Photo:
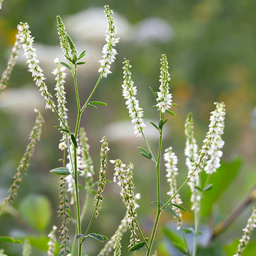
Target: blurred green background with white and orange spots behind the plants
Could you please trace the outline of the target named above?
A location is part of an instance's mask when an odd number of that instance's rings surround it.
[[[107,107],[87,109],[83,113],[81,126],[85,127],[89,138],[90,154],[94,161],[95,179],[99,169],[99,141],[106,135],[109,142],[108,159],[122,159],[128,165],[134,164],[135,192],[141,193],[138,201],[138,221],[147,237],[151,234],[156,207],[150,202],[156,200],[156,178],[153,163],[144,159],[137,147],[145,147],[144,141],[133,134],[125,100],[122,96],[123,58],[130,60],[132,79],[137,86],[137,99],[144,109],[145,129],[148,141],[156,154],[158,138],[156,130],[148,123],[158,122],[159,113],[152,105],[155,98],[148,87],[155,91],[159,88],[160,58],[166,54],[169,62],[170,92],[173,94],[172,111],[176,117],[168,116],[163,149],[172,146],[179,163],[178,184],[187,176],[184,164],[184,123],[188,112],[194,118],[195,138],[199,148],[208,130],[209,112],[215,106],[213,102],[224,101],[226,119],[223,140],[223,166],[213,174],[213,190],[205,196],[202,230],[205,235],[199,237],[202,248],[198,255],[234,255],[238,239],[242,237],[242,228],[251,214],[252,205],[222,235],[209,243],[211,228],[227,215],[245,197],[256,180],[256,2],[250,0],[130,0],[130,1],[88,1],[88,0],[4,0],[0,10],[0,72],[6,68],[11,53],[17,24],[28,22],[31,35],[35,36],[34,47],[40,60],[40,67],[47,78],[50,93],[55,94],[54,58],[63,58],[59,47],[56,15],[60,15],[66,30],[72,37],[79,53],[87,50],[79,66],[78,83],[81,101],[86,101],[97,82],[100,68],[101,50],[105,44],[107,21],[104,17],[104,5],[109,4],[114,11],[113,18],[118,28],[116,45],[118,55],[111,65],[113,74],[101,80],[92,100],[104,101]],[[25,58],[18,58],[6,91],[0,96],[0,199],[7,196],[7,189],[12,183],[33,127],[38,108],[44,116],[41,141],[36,144],[28,176],[25,176],[14,199],[0,219],[0,236],[12,236],[23,239],[29,236],[32,242],[32,255],[46,255],[47,234],[55,224],[61,226],[58,211],[58,180],[50,174],[50,169],[58,167],[62,152],[58,149],[61,135],[54,125],[59,121],[55,114],[44,108],[45,102],[27,72]],[[67,108],[69,126],[75,129],[76,102],[72,76],[66,79]],[[254,114],[253,114],[254,113]],[[73,126],[72,126],[73,124]],[[162,201],[168,200],[164,162],[161,168]],[[107,179],[112,180],[114,166],[108,164]],[[215,188],[214,188],[215,186]],[[181,191],[184,207],[190,209],[188,187]],[[36,199],[35,199],[36,198]],[[81,191],[81,198],[84,195]],[[119,196],[119,187],[110,183],[104,192],[105,201],[101,213],[94,221],[91,232],[100,233],[108,238],[114,234],[125,214],[125,206]],[[30,200],[30,201],[29,201]],[[24,210],[24,205],[31,200],[39,200],[43,210],[38,209],[38,218]],[[37,202],[37,201],[36,201]],[[87,227],[93,200],[83,229]],[[213,203],[213,207],[212,206]],[[23,209],[23,210],[22,210]],[[18,211],[17,211],[18,210]],[[45,212],[44,212],[45,211]],[[34,216],[35,217],[35,216]],[[30,221],[29,221],[30,220]],[[184,214],[184,224],[193,226],[193,214]],[[163,213],[159,231],[156,235],[153,251],[158,255],[179,255],[171,245],[173,238],[169,228],[175,230],[176,221],[169,213]],[[73,225],[69,225],[73,240]],[[123,255],[127,253],[129,231],[123,238]],[[252,235],[251,249],[244,255],[256,254],[256,235]],[[41,240],[40,240],[41,239]],[[188,237],[188,239],[190,239]],[[191,243],[191,242],[190,242]],[[253,247],[254,245],[254,247]],[[84,246],[84,253],[97,255],[103,245],[89,241]],[[22,245],[0,242],[0,249],[5,249],[9,256],[21,254]],[[143,249],[145,250],[145,249]],[[143,255],[140,250],[137,255]]]

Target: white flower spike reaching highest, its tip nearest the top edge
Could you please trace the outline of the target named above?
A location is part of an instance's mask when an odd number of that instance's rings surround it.
[[[115,46],[116,43],[119,42],[119,38],[115,38],[117,28],[114,25],[114,19],[111,17],[113,14],[112,10],[109,10],[109,6],[105,5],[105,17],[108,19],[108,29],[106,32],[109,32],[109,35],[106,35],[107,43],[103,46],[101,56],[103,59],[99,62],[101,63],[101,68],[99,72],[103,72],[102,76],[107,77],[109,73],[112,73],[110,69],[110,64],[115,61],[115,55],[118,54],[116,50],[112,47]]]

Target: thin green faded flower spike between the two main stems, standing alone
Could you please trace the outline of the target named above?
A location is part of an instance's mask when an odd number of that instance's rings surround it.
[[[99,210],[101,209],[101,203],[103,200],[102,192],[104,191],[106,184],[106,169],[107,169],[107,153],[109,151],[108,143],[106,141],[106,137],[103,137],[101,145],[101,169],[98,183],[97,195],[95,196],[95,217],[99,215]]]

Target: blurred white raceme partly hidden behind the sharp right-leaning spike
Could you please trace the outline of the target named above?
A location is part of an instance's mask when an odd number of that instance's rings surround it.
[[[225,105],[223,105],[225,107]],[[225,109],[223,110],[225,111]],[[225,117],[223,116],[223,119]],[[220,151],[221,148],[224,146],[224,141],[221,138],[221,135],[224,133],[224,120],[221,121],[221,131],[220,131],[220,137],[216,139],[216,143],[213,145],[213,151],[211,154],[211,158],[206,162],[206,166],[204,170],[206,173],[212,174],[216,172],[216,169],[220,167],[220,157],[222,157],[222,151]]]

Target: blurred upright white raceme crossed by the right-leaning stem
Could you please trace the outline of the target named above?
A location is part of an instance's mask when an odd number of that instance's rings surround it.
[[[187,137],[186,147],[185,147],[185,155],[186,158],[186,165],[188,169],[188,176],[190,176],[191,172],[193,171],[191,162],[195,162],[198,159],[198,145],[196,144],[196,140],[194,138],[194,126],[193,126],[193,119],[191,113],[187,115],[186,123],[185,123],[185,135]],[[201,196],[198,193],[198,189],[196,186],[199,186],[198,179],[195,179],[194,176],[191,176],[189,182],[187,183],[191,190],[191,198],[190,201],[192,203],[191,209],[198,209],[199,205],[198,202]]]

